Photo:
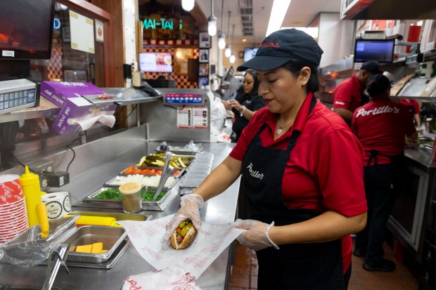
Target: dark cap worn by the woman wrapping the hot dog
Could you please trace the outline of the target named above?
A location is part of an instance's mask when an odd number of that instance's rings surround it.
[[[321,54],[321,47],[306,32],[295,28],[281,29],[269,34],[260,44],[255,57],[238,66],[238,72],[248,69],[274,70],[293,58],[306,60],[317,67]]]

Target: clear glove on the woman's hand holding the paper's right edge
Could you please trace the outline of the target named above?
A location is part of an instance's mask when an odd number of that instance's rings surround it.
[[[274,246],[274,249],[278,249],[278,246],[271,241],[268,236],[269,228],[274,226],[274,221],[271,225],[262,223],[259,220],[236,220],[233,224],[235,228],[246,230],[238,238],[238,242],[243,246],[259,251],[266,249],[269,246]]]

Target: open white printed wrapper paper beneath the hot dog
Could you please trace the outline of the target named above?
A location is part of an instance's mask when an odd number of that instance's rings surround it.
[[[120,220],[117,223],[127,230],[136,251],[154,268],[160,270],[179,265],[196,278],[200,277],[219,254],[245,231],[233,228],[233,223],[202,223],[191,246],[176,250],[170,245],[168,249],[163,249],[165,225],[172,216],[174,214],[157,220]]]

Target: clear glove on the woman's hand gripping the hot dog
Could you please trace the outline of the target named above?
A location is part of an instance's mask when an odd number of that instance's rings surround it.
[[[162,239],[164,249],[168,249],[169,244],[171,244],[171,235],[182,221],[191,219],[195,230],[200,230],[200,209],[204,203],[203,197],[195,195],[195,193],[181,197],[180,209],[166,226],[167,232]]]

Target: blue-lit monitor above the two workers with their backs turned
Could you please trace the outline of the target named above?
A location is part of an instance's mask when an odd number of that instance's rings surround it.
[[[354,62],[392,62],[394,60],[395,39],[356,39]]]

